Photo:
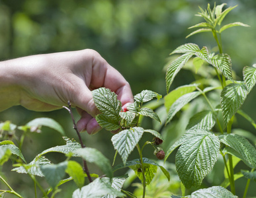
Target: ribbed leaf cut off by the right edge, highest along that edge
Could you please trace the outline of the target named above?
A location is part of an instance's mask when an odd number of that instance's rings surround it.
[[[256,82],[256,64],[253,64],[253,67],[247,66],[243,68],[243,80],[249,93]]]

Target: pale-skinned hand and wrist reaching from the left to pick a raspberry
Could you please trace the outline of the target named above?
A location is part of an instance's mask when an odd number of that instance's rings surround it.
[[[123,108],[134,102],[129,83],[93,49],[0,62],[0,111],[21,105],[46,112],[70,101],[81,115],[77,129],[89,134],[101,130],[94,118],[99,112],[91,93],[99,87],[115,92]]]

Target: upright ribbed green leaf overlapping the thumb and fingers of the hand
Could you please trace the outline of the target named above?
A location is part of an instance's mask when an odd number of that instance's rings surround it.
[[[122,110],[122,104],[117,100],[117,95],[114,92],[104,87],[95,89],[93,90],[93,101],[102,114],[117,121],[120,119],[119,112]]]

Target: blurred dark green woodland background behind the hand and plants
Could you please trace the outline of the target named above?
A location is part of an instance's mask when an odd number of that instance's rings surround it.
[[[185,39],[191,32],[188,27],[202,22],[201,18],[194,16],[199,11],[198,6],[205,9],[207,3],[214,5],[214,1],[206,0],[0,0],[0,60],[91,48],[99,51],[124,75],[134,94],[149,89],[164,96],[163,67],[173,49],[189,42],[200,47],[216,46],[210,33]],[[220,3],[227,3],[228,7],[238,5],[224,23],[239,21],[251,26],[230,28],[222,34],[224,53],[232,57],[232,67],[242,77],[243,67],[256,63],[256,1],[216,1],[216,4]],[[192,80],[183,71],[171,89]],[[253,90],[243,105],[243,110],[251,117],[256,117],[255,109],[251,108],[255,106],[255,94]],[[77,139],[66,110],[32,112],[15,106],[0,113],[1,121],[10,120],[17,125],[24,125],[36,117],[52,117],[64,127],[68,137]],[[79,119],[77,114],[75,117]],[[239,127],[255,133],[255,129],[243,121]],[[87,147],[96,147],[110,159],[114,154],[111,136],[106,131],[93,136],[83,133]],[[29,135],[23,148],[25,158],[30,162],[38,152],[63,143],[61,135],[43,128],[43,133]],[[153,158],[153,150],[149,152],[148,156]],[[53,162],[65,159],[60,155],[49,158]],[[16,181],[17,191],[27,185],[28,178],[17,180],[15,173],[7,176],[10,183]],[[67,189],[64,191],[65,196],[70,197]]]

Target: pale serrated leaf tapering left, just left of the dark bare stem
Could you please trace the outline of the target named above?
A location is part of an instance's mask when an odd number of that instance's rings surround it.
[[[61,152],[61,153],[64,153],[64,154],[68,154],[69,152],[73,152],[74,150],[77,150],[77,149],[81,148],[81,145],[79,143],[77,143],[76,141],[74,141],[73,139],[70,140],[68,137],[63,137],[63,139],[66,142],[65,145],[56,146],[56,147],[52,147],[50,149],[46,149],[43,152],[41,152],[40,154],[38,154],[38,156],[41,156],[41,155],[46,154],[48,152]]]

